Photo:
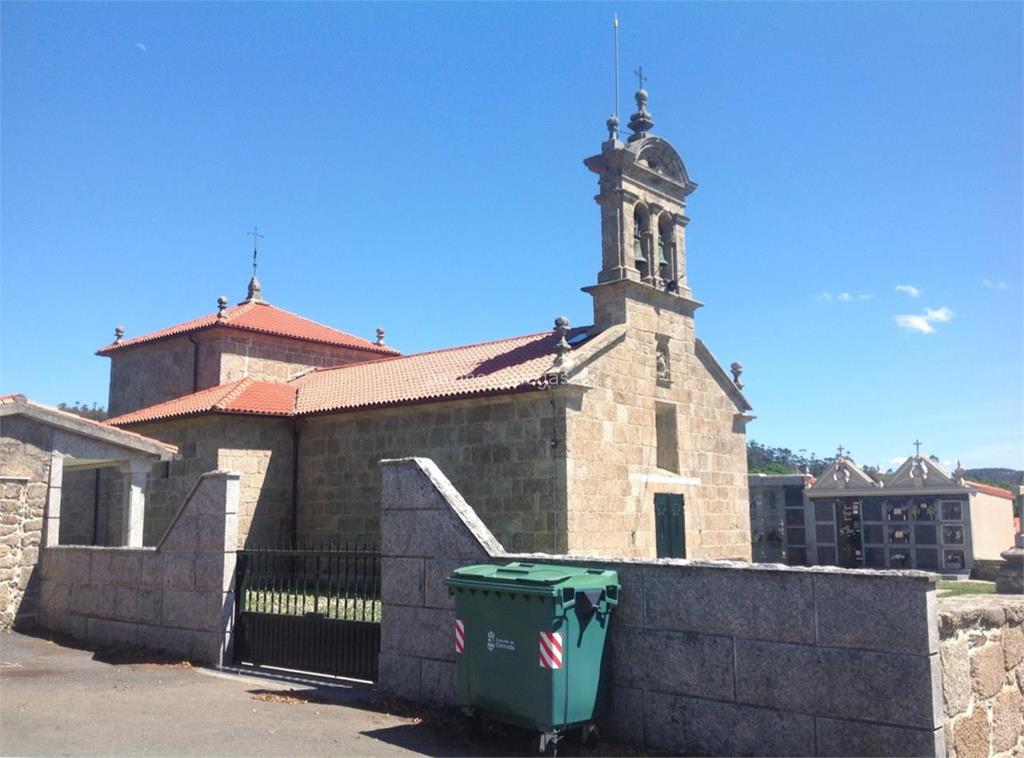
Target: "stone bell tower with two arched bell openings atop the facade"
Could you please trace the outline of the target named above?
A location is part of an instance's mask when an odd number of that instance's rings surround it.
[[[697,185],[675,148],[650,133],[647,97],[645,89],[636,93],[629,138],[618,139],[612,116],[600,154],[584,161],[600,187],[602,266],[597,284],[584,288],[599,328],[625,323],[631,299],[686,315],[700,307],[686,278],[686,198]]]

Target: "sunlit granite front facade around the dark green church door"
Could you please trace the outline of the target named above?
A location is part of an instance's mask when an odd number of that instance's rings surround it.
[[[566,415],[566,552],[654,557],[653,499],[666,493],[685,499],[686,557],[749,560],[748,417],[692,314],[664,297],[639,287],[623,299],[622,338],[571,377],[588,389]],[[659,410],[674,450],[659,444]]]

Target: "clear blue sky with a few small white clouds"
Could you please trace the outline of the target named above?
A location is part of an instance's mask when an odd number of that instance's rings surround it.
[[[1024,466],[1022,7],[4,3],[0,391],[104,404],[253,224],[269,301],[403,351],[590,323],[617,9],[751,436]]]

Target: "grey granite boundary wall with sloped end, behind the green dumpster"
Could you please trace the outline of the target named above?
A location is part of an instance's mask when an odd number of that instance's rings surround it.
[[[492,560],[614,568],[612,739],[681,754],[945,753],[933,582],[910,572],[506,553],[427,459],[382,462],[379,686],[455,697],[444,578]],[[416,629],[417,634],[408,634]]]

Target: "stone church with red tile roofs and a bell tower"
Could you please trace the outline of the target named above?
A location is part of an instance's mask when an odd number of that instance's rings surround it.
[[[695,336],[686,199],[696,184],[651,133],[647,92],[584,162],[597,175],[594,323],[402,355],[268,302],[245,300],[137,337],[116,331],[106,423],[174,445],[147,481],[154,544],[200,473],[242,474],[240,541],[373,540],[383,458],[432,458],[516,551],[751,556],[746,423]],[[540,327],[541,325],[539,325]],[[91,472],[95,473],[95,472]],[[76,471],[63,509],[99,508]],[[116,472],[110,473],[116,476]],[[117,498],[108,499],[111,503]],[[123,499],[121,499],[123,502]],[[117,507],[113,505],[112,507]],[[122,544],[118,514],[96,541]]]

